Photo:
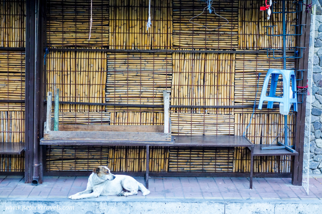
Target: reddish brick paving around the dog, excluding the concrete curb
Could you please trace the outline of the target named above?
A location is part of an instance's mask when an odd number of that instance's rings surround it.
[[[66,199],[69,195],[86,189],[88,177],[44,177],[44,183],[32,186],[24,183],[23,176],[0,176],[0,198]],[[136,179],[144,183],[143,177]],[[259,199],[305,200],[322,199],[322,177],[309,180],[310,192],[293,186],[291,178],[254,178],[249,189],[248,178],[235,177],[152,177],[151,193],[136,196],[150,199]],[[101,196],[117,198],[117,196]]]

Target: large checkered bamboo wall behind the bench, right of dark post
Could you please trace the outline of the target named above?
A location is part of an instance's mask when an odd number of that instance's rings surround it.
[[[295,4],[287,1],[287,9]],[[152,1],[152,27],[146,29],[147,0],[93,1],[93,25],[88,40],[89,2],[47,1],[47,45],[57,48],[92,48],[51,51],[47,55],[47,90],[60,88],[60,123],[110,125],[162,125],[163,109],[117,107],[104,104],[163,104],[162,91],[171,92],[171,105],[221,105],[222,108],[175,107],[170,109],[174,135],[242,135],[257,91],[259,101],[269,68],[282,68],[282,59],[266,54],[197,53],[198,50],[261,50],[281,48],[281,17],[259,11],[264,1],[213,1],[216,13],[203,2]],[[281,1],[274,5],[281,8]],[[200,14],[199,16],[197,16]],[[217,14],[217,15],[216,15]],[[228,24],[225,24],[226,18]],[[193,18],[194,16],[197,16]],[[192,19],[193,24],[189,22]],[[287,32],[295,32],[294,14],[287,15]],[[205,25],[206,30],[200,25]],[[225,24],[224,26],[222,26]],[[274,29],[263,26],[277,25]],[[221,28],[218,28],[222,26]],[[218,28],[218,29],[215,29]],[[288,47],[295,37],[287,38]],[[105,51],[95,50],[97,48]],[[113,49],[110,50],[109,49]],[[115,49],[119,49],[115,51]],[[122,49],[170,49],[174,53],[128,53]],[[272,57],[269,55],[269,57]],[[287,68],[295,60],[287,60]],[[259,73],[261,75],[259,76]],[[278,83],[278,94],[282,84]],[[290,142],[294,136],[294,113],[288,116]],[[255,109],[246,135],[255,144],[270,144],[283,129],[279,109]],[[278,140],[283,141],[281,137]],[[90,156],[88,154],[90,152]],[[90,171],[108,165],[112,171],[144,171],[143,147],[48,146],[47,171]],[[255,172],[291,172],[289,156],[256,157]],[[249,172],[250,154],[242,148],[151,147],[150,171]]]

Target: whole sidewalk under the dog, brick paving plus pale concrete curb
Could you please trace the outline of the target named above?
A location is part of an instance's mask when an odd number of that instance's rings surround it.
[[[322,177],[310,178],[310,192],[293,186],[290,178],[152,177],[151,193],[142,196],[99,196],[72,201],[86,189],[88,177],[44,177],[44,183],[25,184],[22,176],[0,176],[0,210],[4,213],[321,213]],[[143,177],[136,179],[144,183]],[[9,206],[21,206],[10,209]],[[27,206],[29,206],[27,208]],[[36,210],[29,210],[32,207]],[[43,208],[41,207],[43,206]],[[51,210],[48,206],[72,206]],[[15,210],[13,210],[15,209]],[[28,210],[26,210],[28,209]]]

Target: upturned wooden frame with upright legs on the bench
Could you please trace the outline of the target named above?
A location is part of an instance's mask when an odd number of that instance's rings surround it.
[[[173,143],[169,117],[170,93],[163,91],[165,125],[58,125],[59,89],[55,91],[54,117],[52,118],[52,92],[47,95],[47,122],[44,124],[43,139],[46,141],[102,141],[105,143],[165,142]],[[86,130],[86,131],[83,131]]]

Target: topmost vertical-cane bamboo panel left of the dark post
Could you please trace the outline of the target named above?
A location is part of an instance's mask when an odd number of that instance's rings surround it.
[[[0,15],[0,47],[25,47],[25,0],[1,1]]]

